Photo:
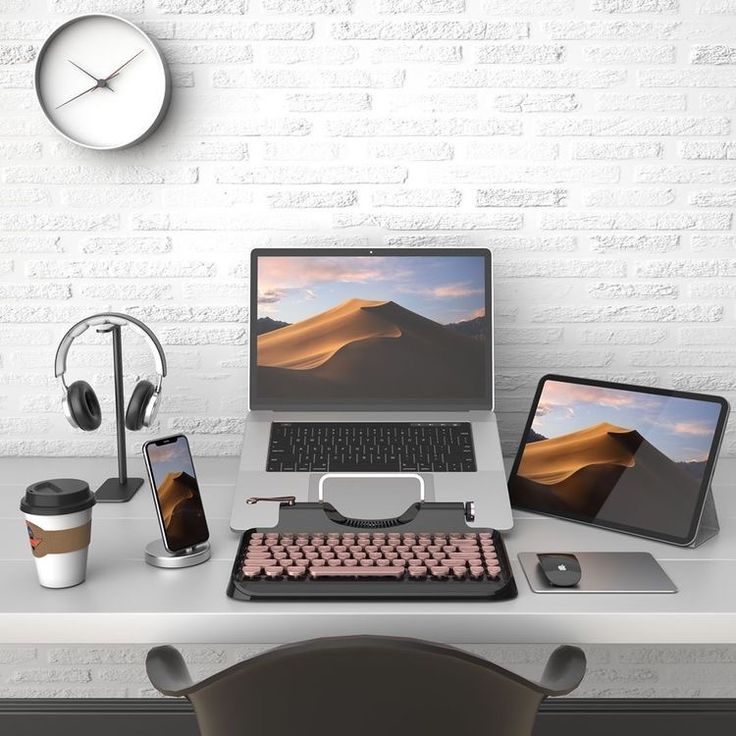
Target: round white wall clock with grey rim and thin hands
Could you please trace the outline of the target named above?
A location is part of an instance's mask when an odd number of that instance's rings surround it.
[[[36,94],[51,124],[74,143],[136,143],[161,122],[169,74],[153,41],[111,15],[84,15],[48,38],[36,60]]]

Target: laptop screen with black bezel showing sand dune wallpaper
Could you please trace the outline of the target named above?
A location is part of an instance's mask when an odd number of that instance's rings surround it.
[[[491,254],[256,250],[252,408],[491,408]]]

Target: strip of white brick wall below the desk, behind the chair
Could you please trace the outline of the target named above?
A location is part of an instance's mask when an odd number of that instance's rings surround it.
[[[195,679],[219,672],[272,645],[180,647]],[[538,678],[553,646],[461,644],[519,674]],[[585,646],[588,671],[572,697],[732,698],[736,647]],[[0,645],[0,698],[157,697],[146,677],[148,647],[112,644]]]

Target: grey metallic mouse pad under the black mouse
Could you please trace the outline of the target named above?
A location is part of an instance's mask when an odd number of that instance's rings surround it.
[[[536,552],[519,553],[524,575],[535,593],[677,593],[677,586],[648,552],[566,554],[574,554],[580,563],[580,582],[572,588],[550,585]]]

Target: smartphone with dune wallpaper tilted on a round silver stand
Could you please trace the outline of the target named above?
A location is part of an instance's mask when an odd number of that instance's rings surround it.
[[[143,458],[166,549],[179,552],[206,542],[210,532],[187,438],[149,440]]]

